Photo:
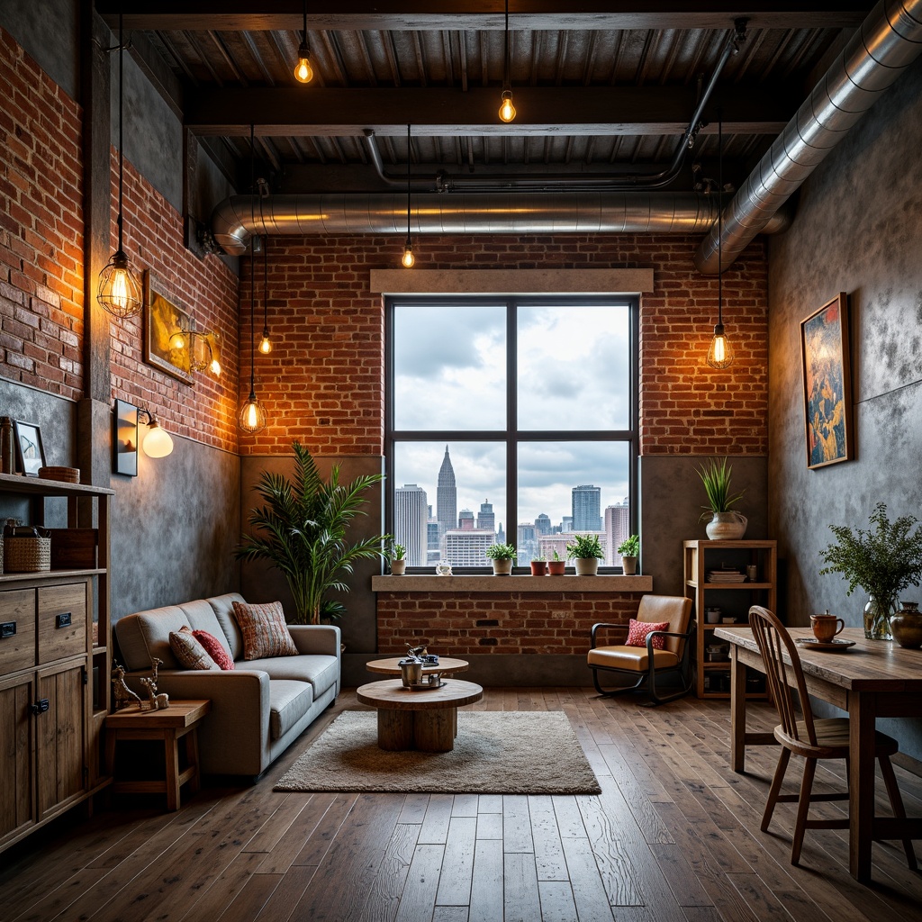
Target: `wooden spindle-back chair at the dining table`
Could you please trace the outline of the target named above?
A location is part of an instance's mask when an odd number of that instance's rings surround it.
[[[791,864],[798,864],[800,848],[803,845],[804,831],[807,829],[847,829],[848,819],[844,820],[808,820],[810,802],[817,800],[847,800],[848,794],[812,794],[813,776],[816,773],[818,759],[845,759],[847,770],[849,747],[849,724],[847,717],[814,719],[810,708],[810,695],[800,668],[800,656],[797,645],[791,639],[785,626],[774,612],[753,605],[750,609],[750,626],[755,642],[762,653],[768,691],[774,699],[781,723],[774,728],[774,739],[781,744],[781,754],[774,770],[772,786],[768,792],[765,813],[762,817],[762,832],[768,832],[772,822],[774,805],[778,801],[797,802],[798,817],[794,825],[794,837],[791,844]],[[803,719],[798,720],[795,712],[792,689],[797,689]],[[881,763],[881,774],[887,786],[887,794],[893,815],[903,818],[903,798],[896,784],[896,775],[890,757],[899,750],[895,739],[884,733],[875,734],[874,755]],[[803,756],[804,774],[800,783],[799,794],[781,794],[781,784],[785,778],[787,762],[791,753]],[[916,870],[916,853],[911,839],[903,840],[903,848],[909,867]]]

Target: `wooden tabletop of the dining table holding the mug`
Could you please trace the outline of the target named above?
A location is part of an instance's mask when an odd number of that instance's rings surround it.
[[[812,637],[810,628],[788,628],[798,637]],[[758,653],[751,628],[723,625],[715,636]],[[839,640],[855,646],[828,651],[798,644],[800,665],[805,673],[852,691],[922,691],[922,650],[906,650],[892,641],[867,640],[862,628],[845,628]]]

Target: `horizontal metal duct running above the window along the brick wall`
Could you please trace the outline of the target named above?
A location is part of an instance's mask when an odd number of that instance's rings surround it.
[[[413,234],[702,233],[715,195],[668,192],[413,195]],[[790,226],[780,212],[762,231]],[[253,234],[406,234],[406,193],[233,195],[211,216],[215,241],[246,252]]]

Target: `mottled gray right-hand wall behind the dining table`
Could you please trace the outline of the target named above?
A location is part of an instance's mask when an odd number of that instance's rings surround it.
[[[876,502],[922,515],[922,60],[878,101],[801,190],[769,259],[769,526],[787,561],[788,624],[829,609],[861,624],[858,590],[821,576],[829,526],[868,526]],[[851,304],[856,457],[809,471],[799,324],[839,291]],[[907,590],[904,597],[922,598]],[[888,732],[922,758],[922,723]],[[887,727],[884,727],[887,729]]]

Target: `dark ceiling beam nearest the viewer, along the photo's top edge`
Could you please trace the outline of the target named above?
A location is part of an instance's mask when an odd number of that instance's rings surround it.
[[[133,0],[126,30],[300,30],[301,0]],[[338,0],[308,9],[310,30],[502,30],[502,0]],[[867,0],[512,0],[512,30],[728,29],[745,16],[752,29],[849,29],[867,15]],[[96,0],[110,26],[123,0]]]

